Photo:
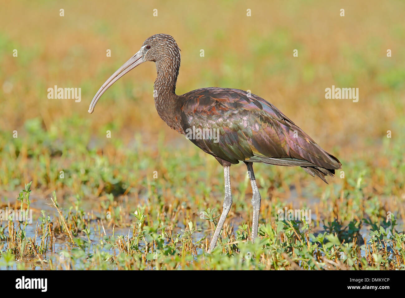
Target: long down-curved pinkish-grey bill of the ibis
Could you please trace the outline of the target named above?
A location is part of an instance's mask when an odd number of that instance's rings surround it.
[[[134,69],[136,66],[138,66],[139,64],[141,64],[143,62],[145,62],[145,60],[143,60],[143,53],[140,50],[140,51],[138,51],[138,53],[136,53],[134,56],[132,56],[127,62],[125,62],[124,65],[122,65],[119,69],[117,69],[117,71],[115,73],[113,73],[113,75],[111,75],[111,77],[109,77],[107,79],[107,81],[105,81],[104,84],[102,84],[101,88],[98,89],[96,95],[94,95],[92,103],[90,103],[88,112],[90,114],[93,113],[94,107],[96,106],[97,101],[100,99],[102,94],[104,94],[104,92],[108,88],[110,88],[111,85],[113,85],[116,81],[118,81],[120,77],[122,77],[123,75],[125,75],[130,70]]]

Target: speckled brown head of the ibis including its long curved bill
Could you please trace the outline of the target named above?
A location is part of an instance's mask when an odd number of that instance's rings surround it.
[[[155,34],[148,37],[143,42],[141,49],[102,84],[96,95],[94,95],[88,112],[93,113],[97,101],[111,85],[145,61],[155,62],[158,72],[162,69],[171,70],[176,73],[177,77],[180,68],[180,49],[175,39],[168,34]]]

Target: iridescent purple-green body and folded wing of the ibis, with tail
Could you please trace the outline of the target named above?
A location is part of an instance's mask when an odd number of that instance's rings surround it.
[[[336,157],[255,94],[212,87],[185,93],[179,100],[181,127],[185,133],[211,129],[215,138],[192,134],[190,140],[220,163],[252,161],[301,166],[325,182],[325,175],[332,176],[341,167]]]

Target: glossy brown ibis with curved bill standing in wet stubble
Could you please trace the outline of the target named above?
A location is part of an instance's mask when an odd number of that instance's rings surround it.
[[[176,94],[180,69],[180,48],[169,34],[147,38],[134,56],[125,62],[97,91],[88,112],[119,78],[143,62],[156,64],[153,98],[160,118],[185,135],[224,167],[224,203],[211,238],[208,253],[217,245],[232,206],[230,166],[243,161],[252,187],[253,220],[251,240],[258,236],[261,196],[253,163],[302,167],[324,182],[341,168],[340,161],[285,116],[277,107],[250,92],[209,87]]]

